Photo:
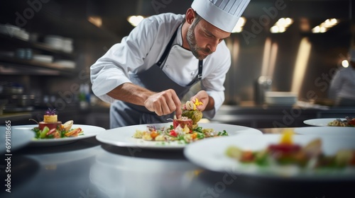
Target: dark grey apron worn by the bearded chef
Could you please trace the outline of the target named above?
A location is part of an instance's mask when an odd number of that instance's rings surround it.
[[[165,48],[165,51],[151,68],[143,71],[139,74],[130,74],[129,78],[132,83],[147,88],[148,90],[154,92],[161,92],[172,88],[178,97],[181,98],[190,90],[191,86],[202,79],[202,60],[198,63],[198,74],[197,76],[187,85],[180,86],[175,83],[163,72],[163,63],[168,57],[171,47],[173,46],[173,41],[178,33],[178,29],[175,30],[173,37]],[[136,124],[151,124],[151,123],[164,123],[171,122],[168,118],[173,118],[175,112],[170,115],[158,116],[155,112],[151,112],[144,106],[133,105],[131,103],[126,103],[121,100],[116,101],[111,104],[110,108],[110,127],[111,129],[116,127],[124,127]]]

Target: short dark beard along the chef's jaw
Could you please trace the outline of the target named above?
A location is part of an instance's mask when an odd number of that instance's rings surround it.
[[[206,58],[212,52],[208,48],[203,48],[203,47],[197,46],[196,37],[195,37],[195,33],[194,33],[195,26],[196,26],[196,24],[192,23],[190,28],[187,30],[187,43],[190,46],[190,50],[191,50],[192,54],[194,54],[194,56],[197,59],[202,60],[202,59]],[[199,52],[203,52],[204,54],[199,54]]]

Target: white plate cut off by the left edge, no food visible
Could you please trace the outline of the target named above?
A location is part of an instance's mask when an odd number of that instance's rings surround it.
[[[7,132],[7,135],[6,135]],[[12,151],[16,151],[18,148],[22,148],[23,146],[26,146],[29,144],[32,139],[35,137],[35,134],[31,131],[28,130],[16,130],[13,129],[13,126],[11,127],[0,127],[0,142],[1,142],[1,148],[0,148],[0,153],[7,153],[6,152],[6,139],[9,139],[10,146],[10,153]]]

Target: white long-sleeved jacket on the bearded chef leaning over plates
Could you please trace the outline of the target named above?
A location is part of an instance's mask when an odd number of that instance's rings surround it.
[[[197,75],[198,59],[190,50],[176,46],[182,46],[183,18],[185,16],[180,14],[162,13],[141,21],[128,36],[112,46],[90,67],[93,93],[107,103],[114,103],[115,99],[107,93],[122,83],[131,82],[129,74],[146,71],[158,62],[176,28],[179,28],[178,34],[163,71],[181,86],[190,83]],[[214,98],[214,110],[204,111],[207,118],[214,117],[224,103],[224,80],[230,66],[231,54],[224,41],[219,43],[216,52],[203,61],[201,86]]]

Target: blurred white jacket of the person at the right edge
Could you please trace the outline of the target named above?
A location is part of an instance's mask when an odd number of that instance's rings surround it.
[[[351,66],[340,69],[334,74],[330,88],[329,98],[347,98],[355,100],[355,69]]]

